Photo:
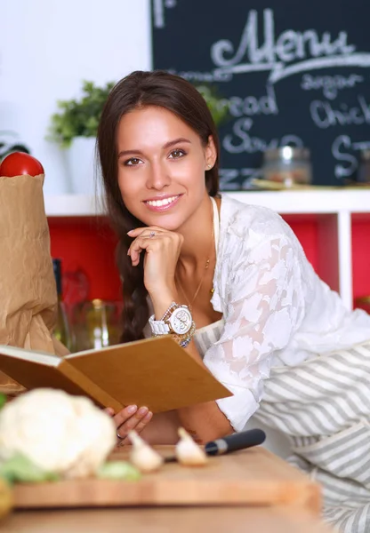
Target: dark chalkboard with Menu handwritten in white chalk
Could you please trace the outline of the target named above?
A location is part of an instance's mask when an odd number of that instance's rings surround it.
[[[313,182],[356,179],[370,148],[370,2],[152,0],[153,68],[213,85],[221,188],[248,188],[265,149],[310,148]]]

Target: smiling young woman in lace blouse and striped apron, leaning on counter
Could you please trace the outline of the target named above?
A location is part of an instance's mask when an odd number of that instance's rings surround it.
[[[205,442],[255,413],[289,435],[328,518],[370,530],[370,316],[345,309],[277,213],[218,194],[217,131],[181,77],[119,82],[98,150],[119,236],[122,341],[173,335],[233,393],[154,418],[130,406],[114,415],[118,438],[135,427],[175,442],[181,425]]]

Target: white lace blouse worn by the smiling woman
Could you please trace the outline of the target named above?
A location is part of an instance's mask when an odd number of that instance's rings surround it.
[[[217,403],[236,431],[257,410],[272,366],[298,365],[370,338],[370,315],[347,311],[286,222],[227,195],[213,287],[211,302],[223,319],[203,361],[233,393]]]

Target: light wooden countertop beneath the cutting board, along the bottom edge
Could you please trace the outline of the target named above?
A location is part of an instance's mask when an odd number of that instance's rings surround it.
[[[6,533],[334,533],[311,513],[278,507],[17,511],[2,526]]]

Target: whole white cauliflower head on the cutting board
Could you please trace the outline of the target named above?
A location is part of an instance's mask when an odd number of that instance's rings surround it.
[[[97,472],[115,447],[116,426],[83,396],[39,388],[0,411],[0,459],[16,454],[65,478]]]

